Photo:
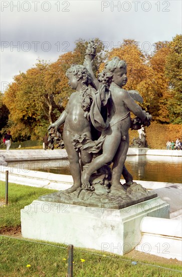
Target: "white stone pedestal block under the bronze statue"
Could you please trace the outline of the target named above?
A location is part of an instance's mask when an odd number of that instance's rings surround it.
[[[169,218],[168,211],[160,197],[121,210],[34,200],[21,210],[22,235],[123,255],[140,242],[143,217]]]

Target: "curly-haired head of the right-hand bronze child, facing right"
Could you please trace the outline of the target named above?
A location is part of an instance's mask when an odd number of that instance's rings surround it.
[[[104,70],[99,74],[99,81],[110,85],[114,82],[117,86],[122,87],[127,82],[127,66],[124,60],[114,57],[107,61]]]

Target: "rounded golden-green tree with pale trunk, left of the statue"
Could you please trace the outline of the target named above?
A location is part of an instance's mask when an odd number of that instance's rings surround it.
[[[57,108],[54,94],[59,93],[59,72],[54,63],[39,61],[26,73],[15,76],[14,83],[5,92],[5,103],[10,110],[14,137],[38,138],[55,119]]]

